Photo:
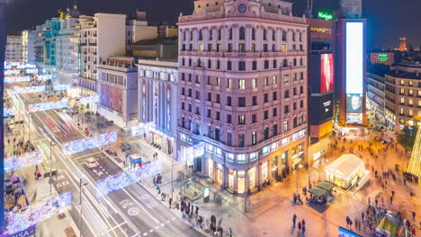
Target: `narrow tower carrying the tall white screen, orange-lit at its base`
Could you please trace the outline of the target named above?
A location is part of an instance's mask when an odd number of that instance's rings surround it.
[[[366,20],[361,0],[341,0],[335,22],[335,120],[343,134],[363,135],[366,119]]]

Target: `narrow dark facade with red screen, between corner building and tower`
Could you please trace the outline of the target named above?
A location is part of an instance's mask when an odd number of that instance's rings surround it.
[[[324,18],[331,19],[327,13]],[[320,17],[320,16],[319,16]],[[333,131],[335,34],[334,22],[309,22],[309,165],[320,161]]]

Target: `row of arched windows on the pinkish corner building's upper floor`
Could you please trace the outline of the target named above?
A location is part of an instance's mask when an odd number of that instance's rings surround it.
[[[235,32],[236,31],[236,32]],[[259,30],[258,30],[259,31]],[[199,30],[197,31],[197,40],[204,40],[204,34],[203,34],[203,30]],[[207,32],[207,38],[208,40],[213,40],[214,37],[217,40],[222,40],[222,29],[210,29]],[[277,37],[279,34],[281,34],[281,40],[282,41],[286,41],[288,39],[288,32],[287,31],[276,31],[276,30],[267,30],[267,29],[262,29],[261,30],[261,38],[262,40],[277,40]],[[189,31],[189,30],[184,30],[183,32],[183,40],[193,40],[193,31]],[[251,40],[256,40],[257,39],[257,34],[256,34],[256,30],[255,28],[252,28],[250,33],[247,34],[246,33],[246,28],[245,27],[240,27],[238,29],[234,29],[234,28],[229,28],[228,32],[228,40],[234,40],[234,34],[237,35],[237,40],[248,40],[248,38],[250,38]],[[294,32],[291,31],[290,33],[291,36],[291,40],[292,41],[296,41],[299,40],[300,42],[302,42],[303,40],[303,33],[301,32]]]

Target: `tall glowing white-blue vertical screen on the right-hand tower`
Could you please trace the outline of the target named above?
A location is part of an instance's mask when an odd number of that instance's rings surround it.
[[[346,22],[346,93],[363,93],[363,22]]]

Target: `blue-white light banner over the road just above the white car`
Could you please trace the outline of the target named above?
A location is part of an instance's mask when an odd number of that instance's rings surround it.
[[[69,142],[65,145],[64,151],[66,154],[78,154],[87,150],[91,150],[103,145],[110,145],[117,142],[117,131],[105,133],[90,138],[84,138]]]

